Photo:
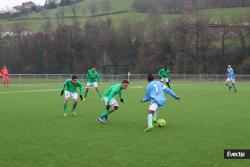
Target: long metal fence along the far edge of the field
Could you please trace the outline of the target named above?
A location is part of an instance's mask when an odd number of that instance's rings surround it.
[[[81,80],[85,80],[86,74],[76,74]],[[11,83],[49,83],[63,82],[67,78],[71,78],[72,74],[10,74]],[[157,76],[155,74],[155,76]],[[130,81],[145,81],[147,74],[101,74],[104,82],[121,81],[124,79]],[[158,79],[158,77],[156,78]],[[224,81],[226,75],[220,74],[172,74],[171,80],[180,81]],[[237,81],[250,81],[250,75],[236,75]]]

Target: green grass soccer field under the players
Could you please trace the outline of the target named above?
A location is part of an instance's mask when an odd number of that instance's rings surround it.
[[[61,86],[0,87],[1,167],[250,166],[224,159],[224,149],[250,149],[249,83],[237,83],[234,93],[223,82],[173,82],[181,101],[167,95],[158,116],[167,125],[148,133],[149,103],[140,103],[146,83],[123,91],[125,104],[105,125],[97,121],[104,102],[93,89],[77,117],[64,118]]]

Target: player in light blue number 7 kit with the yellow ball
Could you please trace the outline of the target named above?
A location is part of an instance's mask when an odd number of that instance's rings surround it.
[[[152,74],[148,74],[148,86],[146,92],[146,98],[142,99],[141,102],[151,101],[148,112],[148,127],[144,130],[144,132],[148,132],[153,128],[153,122],[157,121],[157,114],[159,107],[166,104],[166,98],[164,96],[164,92],[175,98],[176,100],[180,100],[180,97],[177,96],[174,91],[167,88],[160,81],[154,81],[154,77]]]

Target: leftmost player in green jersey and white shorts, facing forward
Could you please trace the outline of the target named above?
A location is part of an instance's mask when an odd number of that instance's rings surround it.
[[[67,117],[67,104],[68,101],[71,99],[73,99],[73,107],[71,109],[71,113],[73,114],[73,116],[76,116],[76,112],[74,111],[77,103],[78,103],[78,94],[77,94],[77,88],[80,89],[80,98],[82,100],[82,84],[79,80],[77,80],[77,76],[73,75],[72,79],[67,79],[64,83],[63,83],[63,87],[61,90],[61,96],[64,94],[65,92],[65,98],[64,98],[64,116]],[[66,91],[65,91],[66,89]]]

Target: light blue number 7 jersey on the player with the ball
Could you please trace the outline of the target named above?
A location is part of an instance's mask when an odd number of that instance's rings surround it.
[[[164,92],[174,98],[178,97],[171,89],[167,88],[160,81],[151,81],[147,86],[146,98],[142,101],[147,102],[151,100],[152,103],[157,103],[159,106],[163,106],[166,103]]]

